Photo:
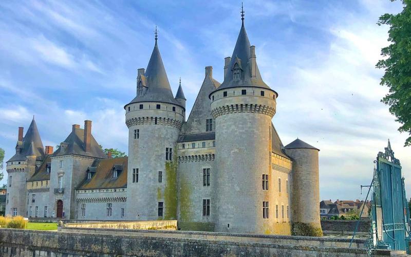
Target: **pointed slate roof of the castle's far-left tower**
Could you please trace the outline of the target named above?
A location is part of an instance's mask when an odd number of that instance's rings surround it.
[[[18,148],[16,154],[14,154],[7,162],[25,161],[26,156],[28,155],[35,155],[37,157],[36,160],[43,160],[44,146],[34,117],[23,138],[23,144],[20,146],[17,145],[16,148]]]

